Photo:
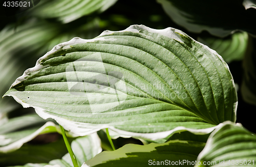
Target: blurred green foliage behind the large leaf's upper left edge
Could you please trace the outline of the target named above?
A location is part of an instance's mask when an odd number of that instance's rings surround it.
[[[96,18],[73,29],[69,25],[35,20],[16,28],[6,26],[0,32],[0,95],[4,95],[13,80],[53,46],[75,36],[93,38],[99,34],[98,26]],[[17,108],[15,104],[11,98],[1,98],[0,113],[11,112]]]

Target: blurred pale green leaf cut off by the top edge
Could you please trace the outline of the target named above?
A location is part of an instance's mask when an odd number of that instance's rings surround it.
[[[101,13],[116,2],[117,0],[48,0],[41,1],[30,14],[42,18],[57,18],[67,23],[94,12]]]

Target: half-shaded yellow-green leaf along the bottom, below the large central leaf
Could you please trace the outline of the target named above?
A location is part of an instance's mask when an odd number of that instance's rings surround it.
[[[191,138],[190,135],[192,135]],[[193,164],[187,164],[187,162],[196,161],[197,156],[203,150],[205,143],[195,140],[196,138],[193,135],[194,134],[189,133],[185,137],[186,140],[171,140],[163,144],[151,143],[144,146],[127,144],[115,151],[103,151],[102,153],[99,153],[91,160],[86,161],[82,167],[171,166],[175,165],[175,162],[176,165],[194,166]]]

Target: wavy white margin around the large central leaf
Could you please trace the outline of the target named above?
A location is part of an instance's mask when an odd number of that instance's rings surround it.
[[[10,88],[12,88],[15,85],[19,84],[20,82],[26,80],[26,76],[28,76],[31,72],[38,71],[42,68],[50,66],[50,65],[43,66],[40,63],[45,62],[46,60],[48,60],[50,58],[53,58],[53,56],[50,57],[52,54],[55,54],[59,51],[65,51],[66,49],[71,48],[69,45],[78,44],[78,43],[88,43],[88,42],[100,41],[100,40],[104,41],[104,37],[100,37],[100,36],[110,35],[110,34],[116,33],[116,32],[118,32],[118,33],[120,33],[120,32],[139,33],[138,29],[139,30],[146,30],[146,31],[152,32],[152,33],[158,33],[158,34],[164,35],[166,37],[173,38],[173,39],[175,39],[175,40],[177,40],[181,43],[184,43],[184,39],[181,38],[180,35],[183,35],[184,37],[189,37],[188,35],[186,35],[182,31],[174,29],[172,27],[167,27],[166,29],[162,29],[162,30],[156,30],[156,29],[151,29],[150,27],[147,27],[145,25],[131,25],[131,26],[127,27],[127,29],[122,30],[122,31],[108,31],[107,30],[107,31],[102,32],[98,37],[96,37],[94,39],[81,39],[79,37],[75,37],[75,38],[73,38],[72,40],[70,40],[68,42],[63,42],[63,43],[60,43],[60,44],[54,46],[51,51],[48,51],[44,56],[42,56],[41,58],[39,58],[37,60],[35,67],[27,69],[22,76],[18,77],[13,82],[13,84],[11,85]],[[170,33],[170,32],[174,32],[174,33]],[[190,39],[193,40],[193,42],[200,43],[200,42],[194,40],[193,38],[190,38]],[[113,39],[113,40],[115,40],[115,39]],[[203,45],[211,53],[214,53],[215,55],[217,55],[217,57],[222,62],[224,62],[225,68],[227,68],[229,73],[230,73],[228,65],[225,63],[224,59],[215,50],[210,49],[208,46],[206,46],[204,44],[201,44],[201,45]],[[231,75],[231,73],[230,73],[230,75]],[[234,89],[236,89],[236,87],[234,86],[234,81],[233,80],[232,80],[232,85],[233,85]],[[67,125],[67,120],[66,119],[62,119],[62,118],[59,118],[57,116],[49,115],[49,114],[44,112],[44,109],[42,109],[40,107],[37,107],[37,106],[27,104],[27,103],[23,102],[22,100],[18,99],[14,95],[8,95],[6,93],[3,97],[5,97],[5,96],[12,96],[18,103],[22,104],[22,106],[25,107],[25,108],[27,108],[27,107],[35,108],[36,113],[41,118],[43,118],[43,119],[52,118],[57,123],[59,123],[61,126],[63,126],[63,128],[65,128],[66,130],[71,131],[72,133],[80,135],[80,136],[88,135],[88,134],[91,134],[91,133],[96,132],[98,130],[109,128],[110,130],[118,133],[119,136],[122,136],[122,137],[131,137],[132,136],[132,137],[135,137],[135,138],[141,138],[141,139],[145,139],[145,140],[147,140],[147,139],[158,140],[158,139],[161,139],[161,138],[165,138],[165,137],[169,136],[170,134],[173,134],[173,133],[176,133],[176,132],[181,132],[181,131],[189,131],[189,132],[192,132],[192,133],[195,133],[195,134],[207,134],[207,133],[212,132],[214,129],[216,129],[220,126],[220,124],[219,124],[219,125],[216,125],[214,127],[205,128],[205,129],[190,129],[190,128],[186,128],[186,127],[183,127],[183,126],[178,126],[174,129],[168,130],[168,131],[155,132],[155,133],[138,133],[138,132],[124,131],[124,130],[116,129],[113,126],[109,126],[109,125],[106,125],[106,124],[101,124],[101,125],[97,126],[97,128],[94,128],[94,129],[91,129],[91,130],[88,130],[88,131],[84,132],[83,128],[79,128],[79,127],[70,128],[70,126]],[[233,103],[234,115],[235,116],[236,116],[237,104],[238,104],[238,101]],[[236,120],[234,120],[234,121],[236,121]],[[77,125],[78,126],[79,125],[84,126],[84,125],[91,124],[91,123],[80,123],[80,122],[74,122],[74,121],[69,121],[69,122],[70,122],[70,124],[73,124],[73,125],[76,125],[76,126]]]

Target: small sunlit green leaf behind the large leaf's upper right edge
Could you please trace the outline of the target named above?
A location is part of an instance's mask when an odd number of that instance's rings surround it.
[[[199,37],[198,41],[216,50],[227,63],[230,63],[244,58],[248,44],[248,34],[237,32],[224,39],[205,36]]]

